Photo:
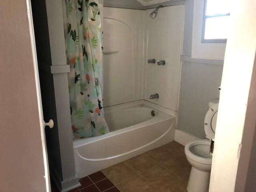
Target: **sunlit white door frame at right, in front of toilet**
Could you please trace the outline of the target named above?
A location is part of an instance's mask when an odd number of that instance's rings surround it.
[[[210,192],[243,192],[245,189],[256,123],[256,86],[251,81],[255,80],[256,74],[255,10],[256,1],[232,3],[231,32],[222,74]]]

